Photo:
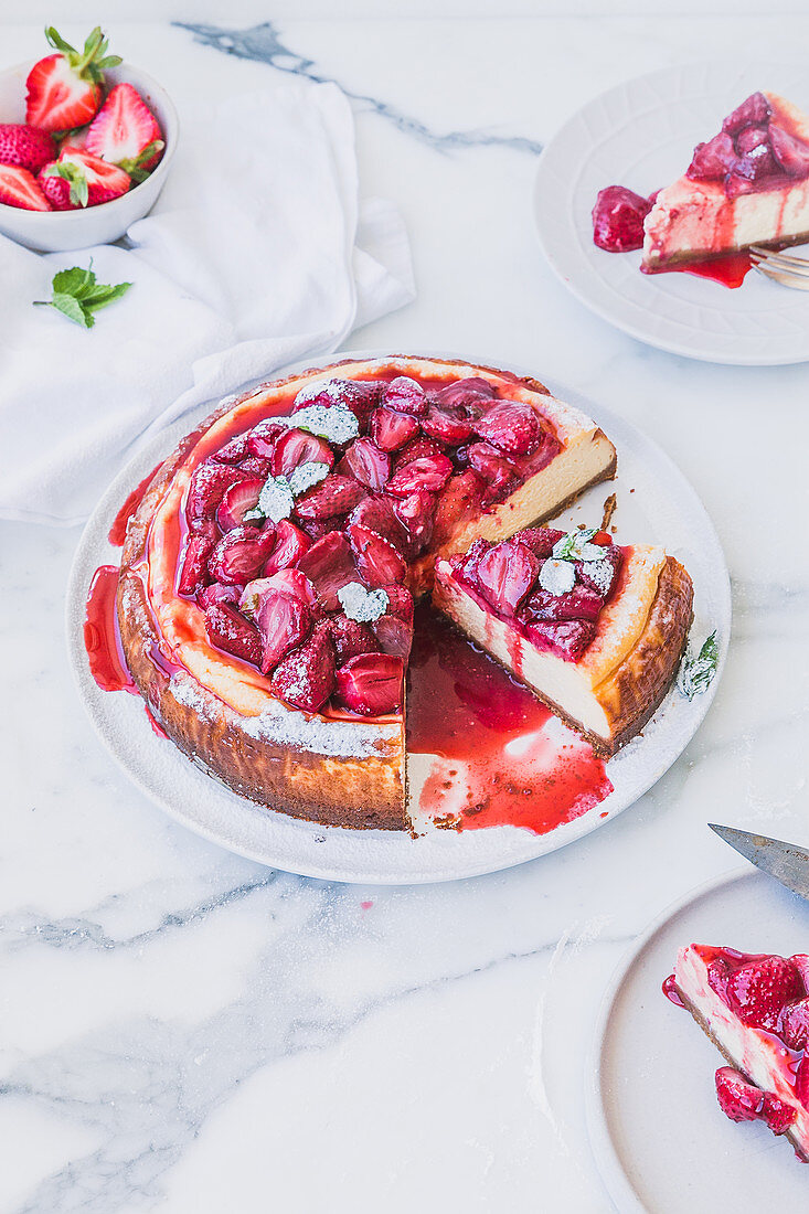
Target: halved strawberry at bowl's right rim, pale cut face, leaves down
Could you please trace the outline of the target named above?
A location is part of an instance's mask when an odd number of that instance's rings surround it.
[[[118,164],[134,181],[143,181],[155,168],[165,142],[159,123],[131,84],[117,84],[90,123],[86,148]]]

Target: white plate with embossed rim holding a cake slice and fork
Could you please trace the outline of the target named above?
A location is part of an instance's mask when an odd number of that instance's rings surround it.
[[[809,359],[809,293],[756,272],[739,290],[692,274],[641,274],[639,251],[605,253],[593,244],[599,189],[621,185],[647,195],[675,181],[695,144],[759,89],[809,109],[803,64],[667,68],[590,101],[542,154],[534,214],[550,266],[583,304],[640,341],[713,363]]]

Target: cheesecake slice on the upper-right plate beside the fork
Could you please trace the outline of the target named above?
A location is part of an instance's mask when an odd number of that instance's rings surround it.
[[[644,222],[643,270],[809,240],[809,117],[756,92],[698,143]]]

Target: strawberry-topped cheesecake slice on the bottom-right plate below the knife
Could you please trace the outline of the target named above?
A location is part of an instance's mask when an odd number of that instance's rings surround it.
[[[735,1122],[763,1121],[809,1162],[809,957],[689,944],[663,991],[724,1055],[719,1106]]]

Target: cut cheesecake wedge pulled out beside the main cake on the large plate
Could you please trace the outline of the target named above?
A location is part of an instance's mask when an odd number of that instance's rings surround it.
[[[692,585],[661,548],[526,528],[440,560],[434,605],[600,754],[658,707],[691,625]]]

